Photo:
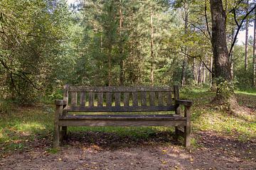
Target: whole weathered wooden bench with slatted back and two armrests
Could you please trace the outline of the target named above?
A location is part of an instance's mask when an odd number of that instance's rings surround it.
[[[184,146],[189,147],[191,143],[192,102],[179,100],[178,86],[65,85],[63,100],[56,100],[55,106],[53,147],[59,147],[60,140],[66,137],[67,126],[175,126],[176,135],[184,137]],[[98,113],[74,115],[68,114],[70,112]],[[112,114],[99,115],[102,112]],[[138,114],[142,112],[147,114]]]

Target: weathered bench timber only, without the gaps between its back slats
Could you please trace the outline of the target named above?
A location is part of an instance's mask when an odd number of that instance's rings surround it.
[[[111,91],[110,91],[111,89]],[[150,106],[146,106],[146,92],[150,94]],[[167,105],[164,106],[162,99],[162,92],[165,91],[171,95],[174,92],[174,104],[171,104],[172,98],[167,97]],[[77,93],[80,92],[80,104],[77,106]],[[89,93],[89,106],[85,106],[85,92]],[[101,98],[98,98],[97,106],[94,106],[92,98],[93,93],[99,93]],[[115,106],[112,106],[112,97],[107,97],[107,106],[103,106],[103,92],[114,94]],[[124,106],[120,106],[120,93],[128,92],[127,96],[124,95]],[[138,106],[138,93],[144,92],[144,101],[142,106]],[[154,106],[155,92],[159,93],[159,106]],[[69,106],[68,96],[71,93],[71,103]],[[132,106],[129,106],[129,93],[132,93]],[[108,96],[111,96],[108,95]],[[117,99],[116,99],[117,98]],[[154,102],[153,102],[154,103]],[[184,115],[181,115],[181,107],[184,106]],[[65,85],[63,89],[63,100],[55,100],[55,119],[54,119],[54,132],[53,132],[53,147],[58,148],[60,141],[67,137],[67,126],[175,126],[176,137],[181,136],[184,138],[183,145],[189,147],[191,145],[191,106],[192,101],[184,101],[179,99],[178,86],[170,87],[89,87],[89,86],[68,86]],[[140,112],[140,111],[175,111],[175,114],[156,116],[80,116],[68,115],[69,111],[75,112]],[[154,118],[153,118],[154,117]]]

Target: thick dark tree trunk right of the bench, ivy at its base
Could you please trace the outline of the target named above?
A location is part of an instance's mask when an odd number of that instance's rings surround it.
[[[230,109],[237,105],[231,85],[232,75],[225,32],[225,11],[222,0],[210,0],[212,17],[213,67],[217,92],[213,100],[217,104],[228,104]]]

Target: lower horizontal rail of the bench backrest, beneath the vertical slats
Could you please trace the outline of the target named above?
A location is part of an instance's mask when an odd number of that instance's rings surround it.
[[[80,108],[68,106],[68,112],[143,112],[143,111],[175,111],[175,106],[92,106]]]

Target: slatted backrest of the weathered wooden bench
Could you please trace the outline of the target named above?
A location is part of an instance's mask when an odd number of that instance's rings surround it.
[[[178,86],[64,86],[67,111],[146,112],[174,111]]]

